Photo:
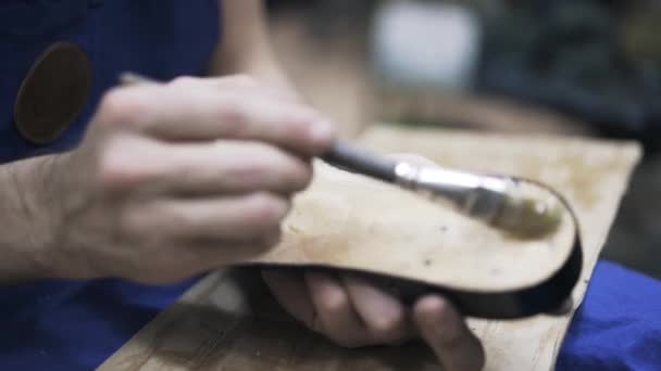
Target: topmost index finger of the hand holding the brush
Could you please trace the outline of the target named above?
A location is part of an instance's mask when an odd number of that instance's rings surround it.
[[[260,140],[304,155],[323,152],[334,137],[332,125],[302,104],[197,85],[116,89],[99,116],[105,126],[165,140]]]

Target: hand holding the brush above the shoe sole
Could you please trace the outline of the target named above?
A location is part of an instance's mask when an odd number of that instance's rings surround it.
[[[117,88],[46,181],[51,276],[165,283],[275,245],[332,127],[246,77]]]

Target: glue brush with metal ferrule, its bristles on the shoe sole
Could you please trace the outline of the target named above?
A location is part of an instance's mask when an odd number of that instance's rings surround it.
[[[132,73],[123,74],[121,79],[125,85],[157,82]],[[515,238],[541,239],[554,232],[562,221],[563,205],[558,197],[514,178],[392,161],[341,140],[336,140],[321,159],[448,204]]]

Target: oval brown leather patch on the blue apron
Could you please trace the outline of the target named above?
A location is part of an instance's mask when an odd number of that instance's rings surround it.
[[[51,44],[35,62],[18,90],[14,121],[35,144],[57,140],[78,117],[89,98],[87,54],[71,42]]]

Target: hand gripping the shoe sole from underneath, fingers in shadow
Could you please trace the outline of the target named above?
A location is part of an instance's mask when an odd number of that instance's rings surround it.
[[[291,316],[340,346],[396,345],[420,336],[444,370],[484,367],[479,341],[442,297],[423,297],[409,314],[397,299],[356,278],[276,271],[262,276]]]

